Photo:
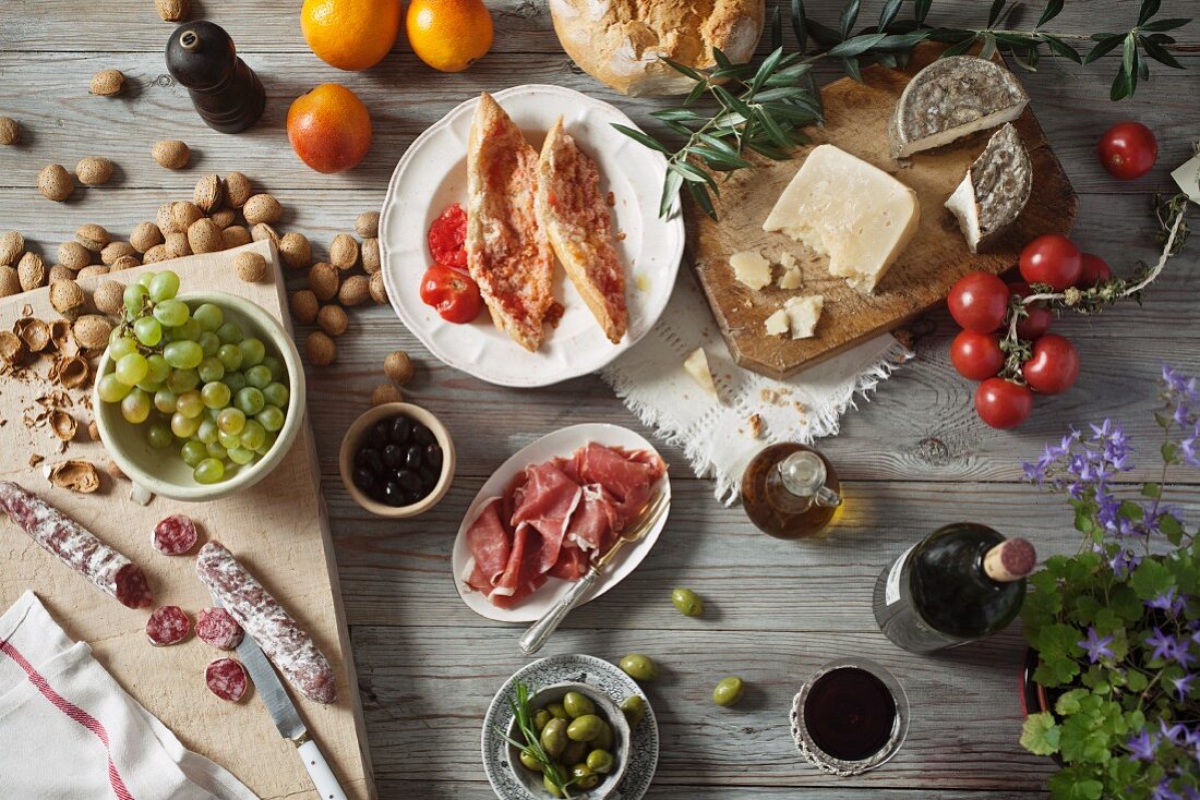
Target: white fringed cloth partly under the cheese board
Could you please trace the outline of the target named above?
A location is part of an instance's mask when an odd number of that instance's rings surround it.
[[[698,347],[708,356],[719,399],[683,369],[684,359]],[[786,380],[743,369],[684,269],[658,324],[600,374],[642,422],[682,446],[696,475],[713,477],[718,499],[730,504],[755,453],[779,441],[810,444],[838,433],[856,397],[911,357],[886,333]]]

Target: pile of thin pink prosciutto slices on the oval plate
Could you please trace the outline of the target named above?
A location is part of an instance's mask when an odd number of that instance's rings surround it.
[[[548,578],[577,581],[644,507],[667,467],[650,451],[589,443],[522,470],[467,529],[460,579],[509,608]]]

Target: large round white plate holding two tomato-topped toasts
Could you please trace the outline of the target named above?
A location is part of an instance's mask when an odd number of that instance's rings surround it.
[[[562,115],[568,133],[596,161],[600,191],[616,201],[613,230],[624,234],[617,253],[626,270],[629,331],[619,344],[608,342],[562,267],[554,270],[554,296],[565,312],[538,353],[497,330],[486,312],[456,325],[421,302],[421,276],[432,263],[426,233],[448,205],[467,204],[467,138],[478,100],[430,126],[396,164],[379,221],[384,285],[408,330],[445,363],[492,384],[547,386],[600,369],[658,321],[683,254],[683,217],[676,211],[659,218],[666,160],[616,131],[612,122],[637,126],[608,103],[544,85],[514,86],[494,97],[534,148]]]

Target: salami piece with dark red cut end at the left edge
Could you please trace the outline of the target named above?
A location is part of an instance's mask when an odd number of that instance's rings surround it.
[[[11,481],[0,481],[0,509],[35,542],[130,608],[154,602],[142,567],[86,528]]]

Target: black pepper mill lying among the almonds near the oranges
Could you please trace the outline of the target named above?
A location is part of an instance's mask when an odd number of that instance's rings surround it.
[[[245,131],[266,106],[258,76],[238,58],[229,34],[214,23],[176,28],[167,42],[167,70],[187,88],[200,119],[222,133]]]

